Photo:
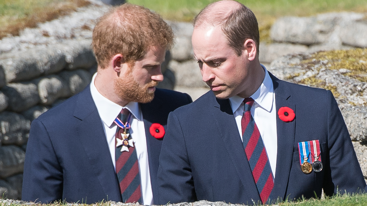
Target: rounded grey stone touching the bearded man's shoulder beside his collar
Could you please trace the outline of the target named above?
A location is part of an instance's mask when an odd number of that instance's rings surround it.
[[[59,76],[69,87],[70,96],[81,92],[92,80],[91,74],[86,70],[62,71]]]

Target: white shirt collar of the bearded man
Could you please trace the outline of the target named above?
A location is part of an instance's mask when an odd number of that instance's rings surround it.
[[[127,108],[131,114],[140,121],[140,119],[142,119],[142,113],[139,104],[137,102],[129,102],[126,106],[122,107],[119,104],[116,104],[115,102],[105,98],[105,96],[98,92],[94,85],[94,79],[96,75],[97,73],[95,73],[92,77],[90,90],[92,99],[95,103],[95,106],[97,107],[99,117],[101,117],[102,121],[109,127],[112,126],[113,121],[115,121],[117,115],[120,114],[123,108]]]

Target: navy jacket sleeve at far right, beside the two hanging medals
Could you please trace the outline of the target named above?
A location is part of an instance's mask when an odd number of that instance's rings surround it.
[[[327,91],[328,157],[323,189],[326,195],[359,192],[366,182],[348,129],[331,91]],[[356,120],[357,121],[357,120]]]

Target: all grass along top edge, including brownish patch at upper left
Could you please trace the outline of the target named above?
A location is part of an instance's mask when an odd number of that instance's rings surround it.
[[[0,0],[0,38],[17,35],[24,27],[49,21],[83,6],[84,0]],[[144,5],[173,21],[192,21],[207,4],[215,0],[127,0]],[[366,0],[239,0],[257,16],[261,40],[269,41],[269,29],[280,16],[310,16],[322,12],[367,12]],[[51,15],[44,11],[56,10]],[[39,14],[39,15],[37,15]]]

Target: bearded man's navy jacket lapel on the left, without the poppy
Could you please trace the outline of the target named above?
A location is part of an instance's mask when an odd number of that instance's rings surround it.
[[[118,181],[113,168],[106,135],[89,86],[79,95],[74,117],[81,120],[80,124],[77,125],[77,136],[83,146],[81,149],[84,149],[86,152],[88,156],[87,161],[92,166],[103,191],[109,197],[109,200],[121,201],[119,185],[117,184]]]

